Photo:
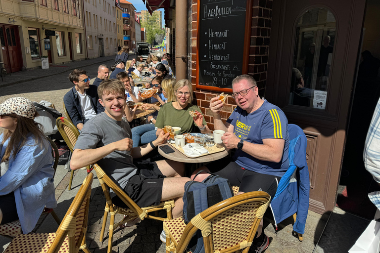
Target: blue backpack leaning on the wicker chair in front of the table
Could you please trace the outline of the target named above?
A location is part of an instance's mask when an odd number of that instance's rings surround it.
[[[194,179],[202,171],[204,170],[196,173]],[[183,217],[186,224],[198,213],[234,196],[230,182],[226,178],[210,173],[202,182],[196,182],[194,179],[185,184]],[[200,230],[191,239],[188,249],[191,249],[192,253],[204,253]]]

